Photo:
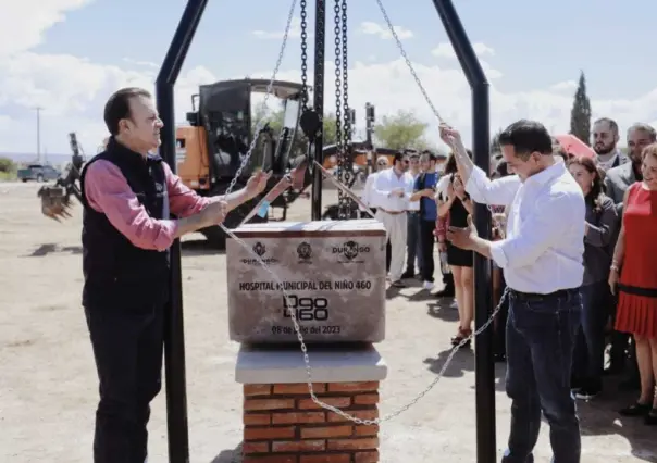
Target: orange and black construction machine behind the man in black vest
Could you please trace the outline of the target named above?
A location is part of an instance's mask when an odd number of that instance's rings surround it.
[[[272,171],[268,190],[285,175],[292,165],[293,141],[299,122],[302,87],[292,82],[275,80],[270,96],[283,105],[281,127],[274,130],[265,124],[259,134],[252,133],[251,103],[255,95],[266,93],[269,80],[236,79],[201,85],[198,95],[191,97],[193,111],[187,113],[189,125],[176,127],[177,174],[183,183],[201,196],[223,195],[239,170],[253,140],[258,140],[247,165],[237,177],[234,190],[246,185],[256,170]],[[198,108],[197,108],[198,102]],[[277,132],[277,133],[276,133]],[[311,182],[307,175],[303,187]],[[271,203],[283,209],[296,199],[294,191],[286,191]],[[234,210],[226,217],[228,228],[237,226],[258,203],[256,198]],[[255,216],[253,222],[268,217]],[[225,234],[219,226],[201,233],[213,246],[223,248]]]

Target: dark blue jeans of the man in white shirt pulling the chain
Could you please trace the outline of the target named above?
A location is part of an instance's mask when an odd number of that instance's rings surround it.
[[[504,463],[534,461],[541,412],[549,424],[553,463],[580,462],[580,422],[570,372],[581,312],[579,288],[546,296],[510,291],[506,387],[511,433]]]

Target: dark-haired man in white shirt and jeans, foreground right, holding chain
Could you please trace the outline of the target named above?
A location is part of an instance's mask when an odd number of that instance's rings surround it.
[[[533,462],[542,411],[550,426],[553,461],[579,463],[580,425],[570,374],[582,310],[582,190],[565,163],[553,157],[550,136],[537,122],[519,121],[499,135],[504,158],[516,175],[497,180],[473,165],[458,132],[442,126],[441,135],[457,153],[470,197],[480,203],[509,204],[503,240],[480,238],[471,220],[468,228],[448,230],[455,246],[503,268],[509,287],[506,389],[512,405],[503,463]]]

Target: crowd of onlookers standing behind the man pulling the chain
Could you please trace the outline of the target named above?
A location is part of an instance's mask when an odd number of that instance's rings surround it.
[[[591,400],[602,392],[604,377],[621,376],[619,387],[636,391],[637,400],[620,414],[657,425],[657,133],[647,124],[634,124],[625,136],[627,153],[619,148],[618,124],[605,117],[593,125],[591,154],[569,152],[551,138],[553,155],[565,164],[585,200],[582,310],[570,387],[577,398]],[[493,153],[486,174],[500,188],[517,177],[501,153]],[[447,232],[469,226],[474,202],[454,153],[407,150],[394,157],[393,165],[379,158],[362,199],[388,233],[391,286],[402,288],[418,278],[432,290],[436,276],[442,278],[443,289],[435,296],[456,299],[459,314],[451,343],[468,338],[473,327],[474,251],[450,242]],[[503,240],[509,226],[511,201],[499,202],[491,204],[492,241]],[[562,211],[557,220],[568,216],[569,211]],[[495,260],[492,272],[496,305],[507,281]],[[500,362],[507,360],[507,316],[505,302],[493,325]]]

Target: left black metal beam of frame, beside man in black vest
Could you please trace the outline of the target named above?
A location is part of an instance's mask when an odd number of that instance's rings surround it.
[[[175,174],[174,86],[203,15],[208,0],[188,0],[156,79],[158,112],[164,123],[160,133],[160,155]],[[164,362],[166,377],[166,425],[170,463],[189,462],[187,386],[185,375],[185,329],[183,323],[183,281],[181,240],[171,247],[170,298],[165,306]]]

